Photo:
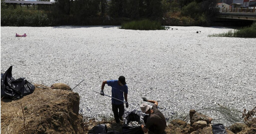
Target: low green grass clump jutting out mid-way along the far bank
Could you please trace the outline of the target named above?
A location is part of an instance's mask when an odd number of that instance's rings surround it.
[[[165,30],[165,27],[161,26],[160,22],[148,19],[126,22],[121,24],[120,28],[132,30]]]

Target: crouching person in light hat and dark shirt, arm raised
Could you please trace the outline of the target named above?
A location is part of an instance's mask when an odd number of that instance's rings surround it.
[[[146,103],[140,105],[140,109],[143,113],[148,114],[145,115],[143,121],[144,125],[141,125],[141,128],[144,133],[148,134],[166,134],[164,129],[166,127],[166,121],[163,114],[157,109],[158,102],[153,100],[147,100],[146,98],[142,98],[145,102],[153,103],[152,108]]]

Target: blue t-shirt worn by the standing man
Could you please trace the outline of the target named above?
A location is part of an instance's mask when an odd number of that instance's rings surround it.
[[[118,84],[118,80],[108,80],[106,81],[106,83],[108,86],[112,87],[111,93],[113,98],[123,100],[123,92],[124,94],[128,94],[128,87],[126,84],[123,86],[120,86]],[[113,98],[111,99],[112,104],[115,104],[115,105],[123,104],[123,102],[115,100]]]

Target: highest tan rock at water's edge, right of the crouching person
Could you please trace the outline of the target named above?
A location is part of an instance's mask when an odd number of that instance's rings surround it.
[[[190,126],[192,126],[193,123],[197,121],[205,121],[207,125],[210,124],[212,121],[212,118],[207,117],[203,114],[197,113],[195,110],[189,111],[189,118],[190,118]]]

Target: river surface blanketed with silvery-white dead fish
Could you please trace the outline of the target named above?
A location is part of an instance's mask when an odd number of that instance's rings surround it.
[[[100,91],[103,80],[123,75],[126,111],[139,109],[146,97],[159,102],[167,120],[182,119],[195,109],[213,123],[241,121],[243,109],[256,106],[256,39],[208,37],[232,30],[225,27],[170,28],[1,27],[1,73],[13,66],[15,79],[71,88],[84,79],[74,92],[80,95],[80,113],[88,118],[112,115],[110,98],[93,90]],[[110,87],[104,90],[111,94]]]

